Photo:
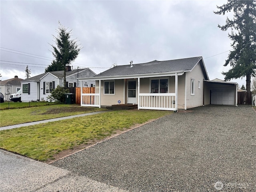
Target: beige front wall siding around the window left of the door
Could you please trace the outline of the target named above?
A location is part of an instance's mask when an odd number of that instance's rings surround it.
[[[97,91],[97,86],[96,86],[96,91]],[[124,104],[124,80],[123,79],[115,80],[115,94],[104,94],[104,81],[101,82],[100,91],[101,91],[100,104],[102,106],[110,106],[110,105],[118,104],[118,100],[121,101],[121,104]]]

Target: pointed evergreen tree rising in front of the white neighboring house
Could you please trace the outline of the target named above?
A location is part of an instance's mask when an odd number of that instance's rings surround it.
[[[69,66],[77,58],[81,47],[77,44],[76,39],[70,39],[72,30],[68,31],[68,28],[62,26],[60,21],[58,23],[60,25],[57,30],[58,36],[52,35],[56,46],[51,44],[54,60],[45,69],[45,72],[64,70],[64,87],[66,87],[66,66]]]

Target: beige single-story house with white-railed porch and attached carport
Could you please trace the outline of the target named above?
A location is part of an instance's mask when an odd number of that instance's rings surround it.
[[[138,109],[186,110],[208,104],[236,105],[237,101],[237,84],[209,80],[201,56],[115,64],[94,77],[79,80],[81,84],[96,81],[96,93],[81,92],[81,106],[137,104]]]

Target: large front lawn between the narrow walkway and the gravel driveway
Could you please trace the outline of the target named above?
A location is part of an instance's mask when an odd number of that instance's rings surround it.
[[[117,130],[171,114],[159,110],[118,110],[57,122],[0,131],[0,148],[35,160],[54,155],[92,140],[103,140]]]

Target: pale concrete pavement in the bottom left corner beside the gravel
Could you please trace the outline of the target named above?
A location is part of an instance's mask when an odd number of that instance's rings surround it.
[[[0,149],[1,192],[125,192],[86,176]]]

